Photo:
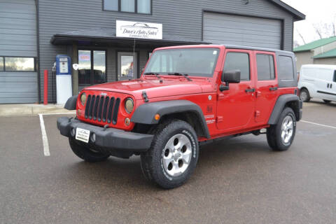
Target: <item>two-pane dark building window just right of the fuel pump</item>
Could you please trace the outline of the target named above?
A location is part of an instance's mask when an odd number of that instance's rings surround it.
[[[106,83],[106,51],[78,50],[78,87]]]

